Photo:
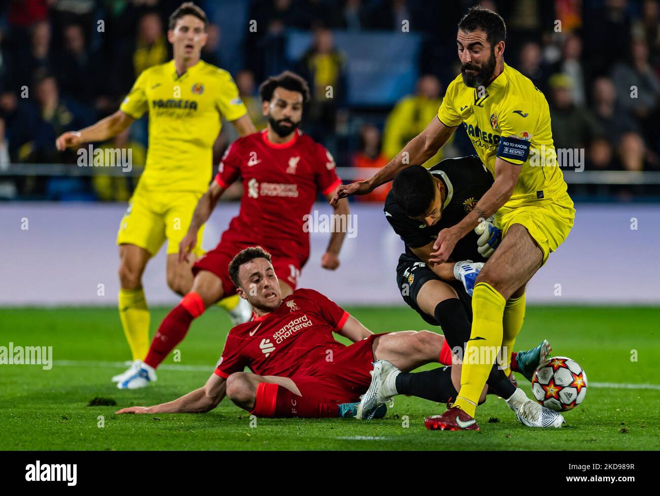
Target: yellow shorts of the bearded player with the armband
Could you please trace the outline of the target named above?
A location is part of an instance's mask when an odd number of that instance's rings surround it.
[[[564,193],[552,202],[508,208],[503,206],[496,215],[496,224],[502,230],[502,236],[513,224],[522,224],[543,251],[543,263],[548,255],[564,243],[573,227],[576,209],[568,193]]]

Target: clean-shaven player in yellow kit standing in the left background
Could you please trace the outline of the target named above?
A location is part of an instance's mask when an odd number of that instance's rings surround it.
[[[147,164],[117,234],[119,317],[133,363],[149,350],[150,314],[142,274],[166,239],[168,286],[182,295],[192,286],[191,266],[203,252],[200,249],[179,263],[179,243],[197,201],[209,187],[212,146],[222,117],[241,136],[256,132],[230,74],[199,58],[207,42],[207,24],[204,11],[192,2],[183,3],[170,16],[168,40],[174,59],[143,71],[114,114],[81,131],[64,133],[55,143],[64,150],[107,140],[149,113]],[[203,228],[197,233],[197,247],[201,247],[202,233]],[[239,301],[231,297],[220,302],[234,325],[251,317]]]

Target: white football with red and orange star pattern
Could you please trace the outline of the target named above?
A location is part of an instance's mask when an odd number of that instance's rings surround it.
[[[587,394],[587,374],[575,360],[552,357],[534,372],[532,392],[536,400],[550,410],[571,410]]]

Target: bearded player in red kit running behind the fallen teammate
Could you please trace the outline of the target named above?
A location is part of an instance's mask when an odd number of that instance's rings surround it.
[[[228,148],[181,241],[180,263],[195,247],[199,226],[209,219],[225,189],[239,178],[244,188],[240,212],[222,233],[218,246],[194,264],[193,287],[162,321],[144,361],[136,361],[119,377],[120,389],[145,387],[155,381],[156,367],[183,340],[192,321],[216,301],[236,293],[227,267],[240,250],[257,244],[268,249],[275,256],[282,294],[296,289],[300,270],[310,255],[304,216],[310,214],[319,193],[329,201],[341,179],[331,154],[297,129],[302,106],[310,98],[306,81],[285,71],[263,82],[259,93],[268,127],[239,138]],[[342,224],[347,226],[348,201],[334,208],[333,220],[344,219]],[[321,265],[335,270],[345,232],[341,228],[331,231]]]

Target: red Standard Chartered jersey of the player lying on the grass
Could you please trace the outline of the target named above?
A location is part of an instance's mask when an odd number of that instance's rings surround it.
[[[341,330],[348,313],[314,290],[300,289],[263,317],[229,331],[215,374],[225,379],[248,367],[258,375],[291,377],[325,361],[328,350],[342,350],[333,332]]]

